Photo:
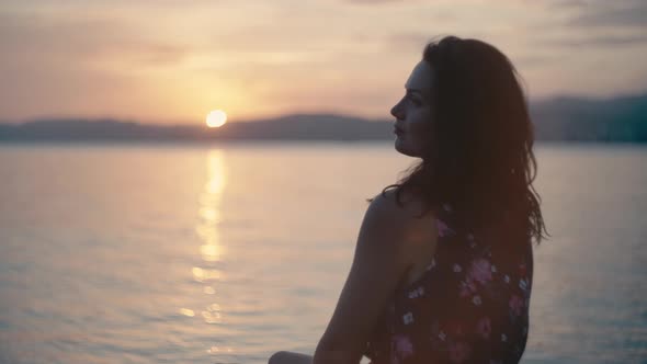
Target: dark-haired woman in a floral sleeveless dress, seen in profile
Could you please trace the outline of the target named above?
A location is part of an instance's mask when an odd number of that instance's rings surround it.
[[[370,200],[314,357],[271,364],[519,362],[545,226],[515,75],[484,42],[427,45],[391,109],[396,150],[421,160]]]

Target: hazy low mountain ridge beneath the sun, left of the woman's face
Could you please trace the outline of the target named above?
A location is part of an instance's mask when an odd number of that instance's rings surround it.
[[[333,114],[294,114],[276,118],[204,125],[144,125],[113,120],[41,120],[0,124],[0,140],[364,140],[393,136],[393,123]]]

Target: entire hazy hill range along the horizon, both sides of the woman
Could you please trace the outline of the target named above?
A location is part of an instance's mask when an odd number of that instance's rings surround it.
[[[557,98],[531,103],[538,140],[647,143],[647,94],[609,100]],[[293,114],[206,126],[144,125],[114,120],[36,120],[0,124],[1,140],[379,140],[393,139],[394,120]]]

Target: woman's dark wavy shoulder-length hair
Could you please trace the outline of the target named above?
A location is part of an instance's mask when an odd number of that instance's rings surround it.
[[[430,147],[382,194],[397,187],[400,204],[402,189],[412,191],[424,213],[449,204],[462,224],[492,234],[506,250],[532,238],[538,244],[547,231],[532,185],[534,132],[514,66],[493,46],[456,36],[429,43],[422,59],[434,72]]]

